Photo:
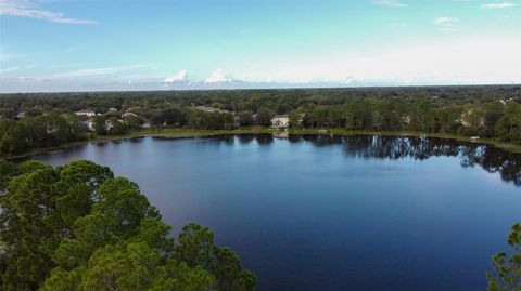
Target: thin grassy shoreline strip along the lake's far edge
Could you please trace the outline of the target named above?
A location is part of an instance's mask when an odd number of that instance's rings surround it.
[[[225,134],[274,134],[280,132],[277,129],[272,128],[244,128],[244,129],[234,129],[234,130],[187,130],[187,129],[175,129],[175,128],[164,128],[164,129],[140,129],[129,131],[128,133],[120,135],[104,135],[97,136],[94,138],[88,138],[79,142],[72,142],[63,144],[60,146],[46,147],[46,148],[35,148],[27,153],[16,156],[0,157],[5,160],[15,160],[24,159],[29,156],[40,155],[40,154],[50,154],[53,151],[65,150],[72,147],[81,146],[88,143],[98,143],[98,142],[114,142],[131,138],[143,138],[143,137],[162,137],[162,138],[192,138],[192,137],[209,137],[215,135],[225,135]],[[468,136],[456,135],[456,134],[446,134],[446,133],[424,133],[416,131],[353,131],[353,130],[342,130],[342,129],[293,129],[288,130],[289,134],[334,134],[343,136],[352,135],[385,135],[385,136],[427,136],[427,137],[436,137],[445,140],[454,140],[459,142],[484,144],[493,146],[499,149],[503,149],[512,154],[521,154],[521,145],[513,145],[510,143],[498,142],[488,138],[480,138],[476,142],[471,142]]]

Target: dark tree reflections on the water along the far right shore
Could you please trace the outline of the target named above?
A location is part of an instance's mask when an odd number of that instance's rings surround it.
[[[237,140],[241,144],[255,141],[258,145],[269,145],[274,142],[274,135],[243,134],[238,135]],[[234,137],[233,135],[223,135],[216,137],[215,141],[231,145]],[[521,155],[483,144],[424,136],[342,136],[332,134],[290,134],[288,141],[290,143],[309,142],[317,147],[343,145],[345,155],[363,158],[424,160],[441,156],[459,157],[461,167],[480,166],[490,173],[499,173],[504,181],[521,186]]]

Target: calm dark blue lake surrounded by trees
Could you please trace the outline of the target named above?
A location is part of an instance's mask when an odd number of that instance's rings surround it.
[[[209,226],[258,290],[485,290],[521,221],[521,157],[474,144],[378,136],[221,136],[92,143],[177,234]]]

